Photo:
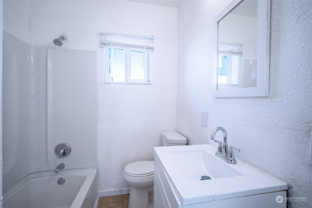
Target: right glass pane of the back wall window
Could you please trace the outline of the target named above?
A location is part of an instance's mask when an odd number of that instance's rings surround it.
[[[144,80],[144,52],[130,51],[130,79]]]

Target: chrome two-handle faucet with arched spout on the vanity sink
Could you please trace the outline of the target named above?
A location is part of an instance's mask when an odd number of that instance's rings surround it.
[[[215,134],[219,130],[221,130],[223,132],[223,145],[222,145],[222,142],[215,140]],[[238,152],[240,152],[240,150],[237,148],[234,148],[233,146],[230,146],[230,150],[228,149],[227,133],[223,127],[215,128],[211,134],[210,139],[214,140],[215,142],[217,142],[219,144],[218,150],[215,152],[215,156],[219,157],[221,160],[224,160],[227,163],[231,163],[231,164],[237,163],[236,159],[234,157],[233,150],[237,150]]]

